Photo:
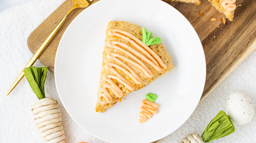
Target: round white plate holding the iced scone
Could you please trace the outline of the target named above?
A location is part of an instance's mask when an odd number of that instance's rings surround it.
[[[133,91],[104,113],[96,113],[105,30],[111,20],[145,27],[159,36],[175,68]],[[179,128],[201,98],[206,75],[204,51],[189,21],[160,0],[100,0],[80,13],[63,34],[55,59],[61,102],[83,129],[116,143],[161,139]],[[159,112],[139,124],[141,101],[155,93]]]

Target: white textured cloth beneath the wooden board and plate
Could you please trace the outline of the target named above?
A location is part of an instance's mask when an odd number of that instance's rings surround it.
[[[25,0],[24,0],[25,1]],[[2,1],[0,1],[2,2]],[[47,4],[51,2],[52,4]],[[37,100],[26,79],[5,97],[6,91],[20,70],[32,57],[27,48],[27,37],[63,0],[32,0],[0,12],[0,142],[34,143],[40,137],[33,123],[31,106]],[[216,37],[219,38],[219,37]],[[35,66],[43,66],[39,61]],[[225,111],[228,94],[234,90],[245,91],[256,104],[256,51],[250,54],[234,71],[213,90],[196,108],[187,122],[160,143],[175,143],[188,133],[201,134],[211,119]],[[46,95],[59,100],[54,76],[48,72]],[[60,100],[59,100],[60,101]],[[91,136],[78,126],[59,102],[63,118],[66,142],[104,142]],[[122,126],[121,126],[122,127]],[[249,143],[256,140],[256,117],[246,126],[236,126],[236,131],[213,143]]]

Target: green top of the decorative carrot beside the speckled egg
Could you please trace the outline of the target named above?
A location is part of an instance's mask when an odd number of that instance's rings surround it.
[[[229,115],[226,115],[224,111],[219,113],[212,119],[202,133],[202,139],[204,142],[211,142],[215,139],[228,136],[235,130]]]

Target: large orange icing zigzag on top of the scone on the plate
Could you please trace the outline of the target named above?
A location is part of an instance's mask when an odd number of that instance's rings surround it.
[[[115,79],[118,82],[122,83],[129,90],[131,90],[131,91],[134,90],[134,87],[132,86],[132,84],[128,80],[126,80],[122,75],[120,75],[116,71],[116,69],[119,69],[122,72],[124,72],[125,74],[127,74],[136,84],[140,84],[142,82],[141,78],[137,75],[137,73],[135,73],[134,70],[132,70],[132,68],[129,67],[127,64],[125,64],[123,61],[126,61],[127,63],[130,63],[130,64],[138,67],[139,69],[141,69],[142,72],[148,78],[151,78],[153,76],[152,71],[141,60],[139,60],[134,55],[141,58],[143,61],[145,61],[146,63],[151,65],[154,69],[156,69],[159,72],[161,71],[161,67],[164,69],[167,68],[167,65],[162,62],[160,57],[152,49],[150,49],[143,42],[141,42],[140,39],[136,38],[132,34],[122,31],[122,30],[118,30],[118,29],[109,30],[108,34],[110,36],[118,36],[118,37],[125,39],[127,42],[131,43],[132,46],[134,46],[139,51],[141,51],[145,56],[143,54],[141,54],[140,52],[138,52],[137,50],[133,49],[132,47],[128,46],[125,43],[122,43],[119,41],[109,41],[107,43],[108,47],[122,51],[123,53],[128,55],[129,58],[127,58],[123,55],[120,55],[118,53],[112,53],[112,52],[110,52],[106,55],[106,57],[108,59],[116,61],[120,65],[124,66],[126,69],[117,64],[111,63],[111,62],[108,62],[104,65],[107,70],[110,70],[115,75],[104,75],[103,76],[103,81],[100,83],[100,86],[99,86],[99,95],[98,95],[98,101],[100,102],[101,105],[111,103],[111,101],[113,100],[112,96],[110,95],[110,93],[108,92],[107,89],[112,90],[113,93],[116,95],[116,97],[119,97],[119,98],[123,97],[123,91],[119,88],[118,85],[115,84],[115,82],[112,79]],[[121,47],[123,47],[123,48],[121,48]],[[131,54],[129,51],[131,53],[133,53],[134,55]],[[123,61],[121,61],[120,59]],[[161,67],[159,66],[159,64]]]

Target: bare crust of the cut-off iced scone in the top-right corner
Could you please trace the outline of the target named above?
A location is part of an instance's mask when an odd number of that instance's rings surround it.
[[[226,16],[226,18],[228,18],[229,21],[233,21],[234,10],[228,12],[227,9],[225,9],[222,6],[222,3],[225,0],[208,0],[208,1],[212,4],[212,6],[215,7],[216,10],[218,10],[220,13],[223,13]],[[236,9],[236,3],[235,2],[234,3],[230,3],[229,5],[234,6],[234,9]]]

